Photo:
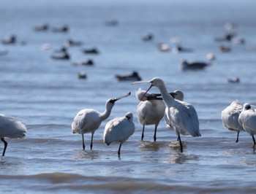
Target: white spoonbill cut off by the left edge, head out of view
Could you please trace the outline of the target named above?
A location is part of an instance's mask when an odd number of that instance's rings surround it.
[[[4,137],[7,138],[24,138],[26,133],[26,125],[21,123],[20,120],[17,120],[14,117],[6,117],[0,115],[0,138],[4,142],[4,151],[2,156],[4,156],[5,151],[7,150],[7,141],[4,140]]]

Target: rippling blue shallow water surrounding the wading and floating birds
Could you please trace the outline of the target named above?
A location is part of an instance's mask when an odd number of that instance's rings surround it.
[[[26,139],[7,139],[5,157],[0,158],[0,190],[4,193],[255,193],[255,150],[252,137],[222,126],[220,114],[231,101],[255,101],[255,1],[0,1],[0,38],[15,34],[18,43],[0,44],[1,113],[26,123]],[[118,20],[118,26],[105,26]],[[225,34],[225,23],[236,24],[238,38],[246,44],[215,42]],[[34,26],[67,24],[67,33],[33,31]],[[143,42],[151,32],[154,39]],[[192,53],[162,53],[157,49],[171,37]],[[69,47],[71,60],[50,58],[67,39],[82,41]],[[25,45],[20,43],[25,41]],[[52,45],[40,50],[42,44]],[[219,53],[221,44],[232,48]],[[97,47],[99,55],[85,55],[83,48]],[[179,62],[207,61],[203,71],[181,72]],[[92,58],[95,66],[72,66]],[[153,141],[154,126],[142,126],[136,118],[135,90],[147,84],[118,82],[116,74],[138,71],[143,80],[161,77],[168,90],[182,90],[185,101],[197,110],[202,137],[181,136],[179,152],[176,133],[162,121]],[[87,79],[77,78],[86,71]],[[227,78],[239,77],[238,84]],[[108,98],[131,91],[113,107],[110,117],[94,133],[94,147],[86,150],[82,139],[72,135],[71,123],[80,109],[104,111]],[[158,92],[152,88],[152,92]],[[121,148],[106,146],[102,133],[108,120],[135,115],[135,133]],[[1,149],[3,144],[1,144]],[[0,150],[1,151],[1,150]],[[13,184],[15,182],[15,184]]]

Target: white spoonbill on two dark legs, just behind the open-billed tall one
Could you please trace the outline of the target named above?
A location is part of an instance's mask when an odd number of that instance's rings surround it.
[[[146,93],[145,90],[140,88],[136,91],[135,95],[140,100],[141,93]],[[150,96],[150,93],[147,93]],[[145,96],[146,97],[146,96]],[[137,106],[137,117],[141,125],[143,125],[141,141],[144,138],[145,125],[154,125],[154,141],[157,141],[157,126],[164,117],[165,103],[161,100],[143,100]]]

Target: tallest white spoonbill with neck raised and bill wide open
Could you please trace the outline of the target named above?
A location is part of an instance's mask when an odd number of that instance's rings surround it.
[[[141,81],[145,82],[145,81]],[[199,129],[199,121],[197,117],[197,112],[195,111],[192,104],[188,104],[184,101],[178,101],[172,98],[165,87],[165,83],[162,79],[155,77],[151,79],[151,85],[148,88],[150,90],[153,86],[157,87],[160,90],[162,98],[165,102],[165,122],[167,127],[171,127],[178,136],[178,141],[180,144],[181,152],[183,152],[183,145],[181,142],[181,136],[190,134],[191,136],[201,136]],[[134,82],[139,83],[139,82]],[[148,92],[146,90],[146,93]],[[145,95],[146,95],[145,93]]]

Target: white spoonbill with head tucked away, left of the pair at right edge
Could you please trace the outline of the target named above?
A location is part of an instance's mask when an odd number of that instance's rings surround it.
[[[244,128],[239,124],[238,117],[243,109],[243,106],[239,104],[239,101],[233,101],[229,106],[222,110],[222,124],[230,131],[237,131],[236,142],[240,131],[244,131]]]

